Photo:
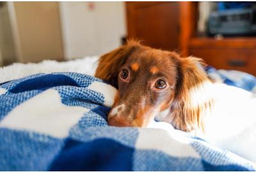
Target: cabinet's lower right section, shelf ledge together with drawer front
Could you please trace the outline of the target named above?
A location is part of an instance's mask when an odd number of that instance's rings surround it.
[[[193,38],[189,53],[217,69],[233,69],[256,76],[256,38]]]

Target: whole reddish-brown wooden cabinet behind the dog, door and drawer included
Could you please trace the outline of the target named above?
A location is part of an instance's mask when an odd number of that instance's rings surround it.
[[[256,37],[197,36],[198,2],[127,2],[127,31],[147,45],[201,57],[216,69],[256,76]]]

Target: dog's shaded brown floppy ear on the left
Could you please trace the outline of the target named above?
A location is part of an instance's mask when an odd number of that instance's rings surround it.
[[[138,41],[127,41],[126,45],[116,48],[112,52],[102,55],[99,59],[99,66],[96,70],[95,77],[109,82],[118,88],[117,76],[119,69],[132,54],[141,45]]]

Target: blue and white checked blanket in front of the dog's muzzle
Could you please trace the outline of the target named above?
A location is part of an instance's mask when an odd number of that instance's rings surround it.
[[[253,162],[173,128],[108,126],[115,92],[78,73],[2,83],[0,171],[256,170]]]

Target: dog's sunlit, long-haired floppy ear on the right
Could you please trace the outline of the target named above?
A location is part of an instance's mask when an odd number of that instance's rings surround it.
[[[204,131],[204,115],[211,112],[213,103],[212,84],[204,72],[204,62],[196,57],[175,59],[178,73],[170,122],[182,131]]]

